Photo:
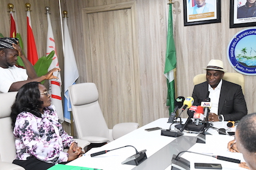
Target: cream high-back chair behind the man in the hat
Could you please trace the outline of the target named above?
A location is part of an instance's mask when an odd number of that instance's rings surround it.
[[[243,93],[244,93],[244,76],[243,76],[243,74],[240,74],[240,73],[225,73],[224,76],[223,76],[223,79],[228,81],[228,82],[232,82],[232,83],[236,83],[238,85],[241,85],[241,88],[242,88]],[[197,84],[205,82],[205,81],[206,81],[206,74],[198,74],[193,79],[194,85],[197,85]]]

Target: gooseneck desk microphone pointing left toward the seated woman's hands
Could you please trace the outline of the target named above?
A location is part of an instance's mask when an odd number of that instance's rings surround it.
[[[127,145],[127,146],[122,146],[122,147],[118,147],[116,149],[121,149],[124,147],[134,147],[131,145]],[[107,152],[110,151],[114,151],[116,149],[111,149],[111,150],[105,150],[105,151],[100,151],[100,152],[96,152],[94,154],[91,154],[91,157],[96,157],[97,155],[102,155],[102,154],[106,154]],[[122,161],[122,164],[126,164],[126,165],[140,165],[141,162],[145,161],[148,157],[146,156],[146,149],[143,151],[138,152],[137,149],[134,147],[136,154],[132,155],[131,157],[127,158],[126,160]]]

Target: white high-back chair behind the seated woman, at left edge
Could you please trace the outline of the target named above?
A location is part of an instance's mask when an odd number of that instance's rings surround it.
[[[15,139],[12,133],[10,112],[15,101],[17,92],[0,94],[0,169],[25,170],[15,165],[12,161],[15,158]]]

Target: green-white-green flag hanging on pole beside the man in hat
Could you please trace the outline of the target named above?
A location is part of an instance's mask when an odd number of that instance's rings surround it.
[[[169,114],[174,110],[175,102],[175,80],[174,69],[176,68],[176,51],[175,43],[173,39],[173,16],[172,16],[171,4],[169,5],[168,15],[168,32],[167,32],[167,50],[165,57],[165,77],[167,77],[167,105],[169,107]]]

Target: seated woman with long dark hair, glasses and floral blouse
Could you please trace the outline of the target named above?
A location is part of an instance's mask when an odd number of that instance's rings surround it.
[[[62,129],[50,94],[42,84],[30,82],[20,88],[11,118],[17,150],[13,163],[26,170],[48,169],[83,154],[73,137]],[[69,148],[67,152],[63,151],[65,147]]]

